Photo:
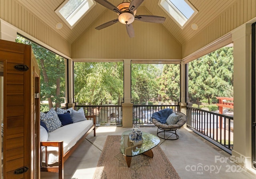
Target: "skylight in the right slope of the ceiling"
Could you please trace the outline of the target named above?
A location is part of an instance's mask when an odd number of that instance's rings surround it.
[[[188,0],[160,0],[158,4],[182,29],[198,12]]]

